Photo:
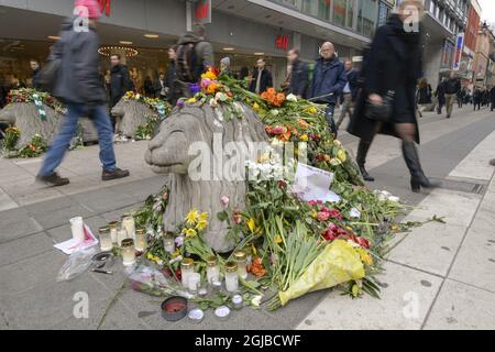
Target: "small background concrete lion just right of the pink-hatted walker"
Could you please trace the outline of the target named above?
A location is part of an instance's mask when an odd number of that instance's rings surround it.
[[[117,131],[131,139],[135,139],[138,128],[146,123],[146,117],[155,114],[145,103],[125,97],[120,99],[111,112],[118,119]]]

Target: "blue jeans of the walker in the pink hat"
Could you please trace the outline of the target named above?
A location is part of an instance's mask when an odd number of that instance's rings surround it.
[[[67,114],[61,131],[55,136],[52,145],[46,152],[38,176],[51,176],[61,165],[72,139],[77,132],[77,122],[80,117],[88,116],[88,107],[80,103],[67,103]],[[113,151],[113,130],[110,118],[103,106],[97,106],[91,113],[91,121],[98,130],[98,141],[100,145],[100,161],[107,172],[116,170],[116,153]]]

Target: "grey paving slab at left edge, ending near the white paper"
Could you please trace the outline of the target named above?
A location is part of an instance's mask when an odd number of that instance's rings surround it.
[[[52,251],[53,244],[44,232],[3,243],[0,245],[0,266]]]

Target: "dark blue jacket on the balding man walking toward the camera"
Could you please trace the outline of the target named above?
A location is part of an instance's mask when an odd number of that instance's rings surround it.
[[[346,82],[345,67],[341,61],[337,57],[330,61],[320,57],[315,65],[309,97],[316,98],[333,92],[333,96],[321,98],[317,101],[321,103],[337,103],[337,99],[340,97]]]

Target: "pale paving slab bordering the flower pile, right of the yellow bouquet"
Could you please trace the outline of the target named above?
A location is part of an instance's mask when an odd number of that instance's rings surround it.
[[[466,228],[430,222],[413,231],[392,251],[388,260],[446,276]]]

